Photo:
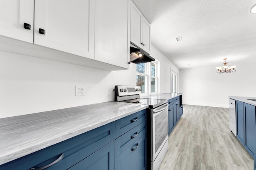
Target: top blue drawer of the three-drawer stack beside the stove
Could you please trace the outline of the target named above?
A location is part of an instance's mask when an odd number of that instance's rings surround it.
[[[147,109],[138,111],[132,115],[128,115],[122,119],[115,121],[115,135],[116,138],[120,137],[124,133],[130,131],[140,123],[146,120]]]

